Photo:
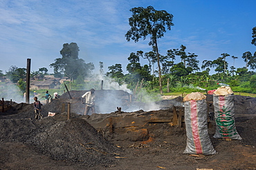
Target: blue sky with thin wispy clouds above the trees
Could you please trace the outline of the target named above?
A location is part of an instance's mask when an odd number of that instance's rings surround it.
[[[31,59],[31,71],[47,67],[53,73],[49,65],[62,57],[64,43],[73,42],[80,47],[79,58],[92,62],[95,72],[102,61],[104,72],[120,63],[126,73],[131,52],[152,50],[148,39],[138,43],[125,39],[129,10],[140,6],[174,15],[172,30],[158,41],[162,55],[185,45],[186,52],[198,55],[200,65],[228,53],[239,57],[235,67],[244,67],[242,54],[256,51],[250,43],[256,26],[255,0],[1,0],[0,70],[5,73],[11,65],[26,68]]]

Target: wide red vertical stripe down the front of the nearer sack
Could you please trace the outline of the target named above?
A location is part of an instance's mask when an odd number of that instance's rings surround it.
[[[190,100],[190,116],[192,125],[192,136],[194,140],[194,147],[196,148],[196,153],[203,153],[201,140],[199,136],[196,100]]]

